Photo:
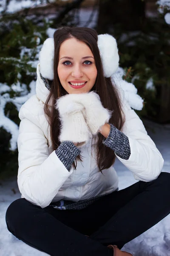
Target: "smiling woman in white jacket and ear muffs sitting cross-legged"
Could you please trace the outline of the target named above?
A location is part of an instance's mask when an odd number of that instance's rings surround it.
[[[170,213],[170,175],[112,84],[115,39],[63,27],[48,38],[36,95],[20,109],[18,186],[8,230],[53,256],[128,256],[120,249]],[[118,158],[139,182],[118,191]],[[75,161],[75,163],[74,163]]]

